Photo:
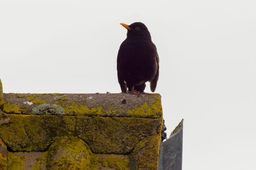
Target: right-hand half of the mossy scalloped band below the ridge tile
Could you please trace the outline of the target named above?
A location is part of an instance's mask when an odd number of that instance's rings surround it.
[[[77,117],[76,133],[93,153],[127,154],[144,136],[160,134],[161,119]]]

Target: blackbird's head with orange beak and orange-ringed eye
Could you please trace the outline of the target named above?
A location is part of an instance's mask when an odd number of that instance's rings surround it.
[[[148,28],[142,22],[134,22],[131,25],[120,23],[124,28],[127,29],[127,38],[130,37],[141,37],[151,39],[151,35]]]

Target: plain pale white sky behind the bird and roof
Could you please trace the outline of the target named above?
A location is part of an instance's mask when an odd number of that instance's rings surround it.
[[[1,0],[3,91],[119,93],[119,23],[135,21],[158,48],[168,136],[184,119],[183,170],[254,170],[255,0]]]

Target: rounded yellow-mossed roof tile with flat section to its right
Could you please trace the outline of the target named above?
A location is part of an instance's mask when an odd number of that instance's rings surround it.
[[[128,163],[128,155],[92,153],[89,146],[75,136],[59,137],[47,154],[48,169],[129,170]]]

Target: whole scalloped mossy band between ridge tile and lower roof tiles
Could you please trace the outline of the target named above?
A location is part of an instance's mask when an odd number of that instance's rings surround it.
[[[0,136],[12,151],[44,151],[55,137],[79,136],[94,153],[127,154],[144,136],[160,134],[162,119],[9,114]],[[113,133],[114,132],[114,133]]]

